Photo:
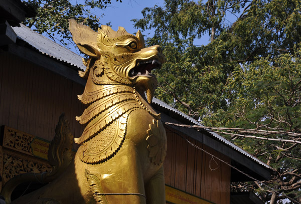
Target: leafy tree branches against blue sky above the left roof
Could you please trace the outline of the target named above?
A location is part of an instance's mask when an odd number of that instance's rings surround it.
[[[99,16],[93,14],[93,10],[105,9],[111,4],[111,0],[25,0],[24,2],[34,9],[37,15],[27,18],[23,24],[40,34],[46,34],[63,46],[69,43],[75,46],[69,32],[68,19],[76,19],[97,31],[100,26]],[[122,1],[116,0],[116,2]]]

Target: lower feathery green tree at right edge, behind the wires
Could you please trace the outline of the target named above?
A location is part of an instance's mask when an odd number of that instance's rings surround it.
[[[282,54],[274,59],[268,56],[235,70],[228,86],[232,100],[227,111],[231,123],[227,125],[300,133],[300,54],[301,49],[298,49],[293,55]],[[301,141],[299,135],[283,133],[269,135],[269,138]],[[249,185],[249,188],[258,189],[270,203],[286,198],[283,193],[301,202],[301,144],[242,140],[235,136],[232,139],[276,169],[277,174],[266,184],[282,194],[271,190],[265,193],[258,184]],[[241,184],[239,186],[245,187]]]

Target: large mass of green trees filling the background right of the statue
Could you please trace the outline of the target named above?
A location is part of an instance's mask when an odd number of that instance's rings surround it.
[[[156,71],[156,97],[206,126],[300,133],[300,10],[298,0],[165,0],[164,7],[145,8],[143,19],[133,22],[155,29],[146,42],[160,44],[167,58]],[[195,46],[205,34],[210,43]],[[279,193],[256,183],[233,189],[256,189],[271,204],[285,196],[301,202],[299,144],[228,138],[277,170],[265,183]]]

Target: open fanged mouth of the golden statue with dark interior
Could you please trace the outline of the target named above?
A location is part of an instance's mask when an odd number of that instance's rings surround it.
[[[158,60],[148,60],[148,61],[137,61],[136,66],[129,71],[129,77],[136,77],[136,76],[150,76],[156,77],[152,74],[152,70],[154,69],[161,69],[162,63]]]

